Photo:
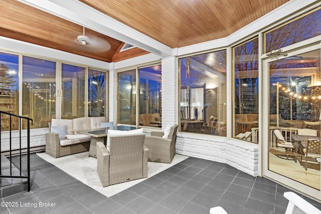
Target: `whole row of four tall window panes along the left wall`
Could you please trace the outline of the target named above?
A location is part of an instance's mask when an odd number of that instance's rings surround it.
[[[48,127],[48,122],[52,118],[106,116],[107,71],[29,56],[22,56],[21,64],[20,86],[19,54],[0,52],[1,111],[32,118],[34,122],[30,128]],[[57,72],[57,67],[61,67],[61,73]],[[88,70],[88,78],[86,70]],[[61,80],[61,83],[57,84],[57,80]],[[87,82],[88,91],[86,91]],[[19,93],[19,87],[22,88],[22,93]],[[22,106],[19,106],[20,99],[22,99]],[[8,131],[9,117],[3,115],[1,119],[2,130]],[[27,128],[24,120],[22,128]],[[18,129],[19,121],[13,119],[12,130]]]

